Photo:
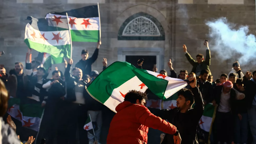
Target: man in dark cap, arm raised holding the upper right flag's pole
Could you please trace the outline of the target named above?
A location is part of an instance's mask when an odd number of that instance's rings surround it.
[[[76,64],[76,68],[79,68],[83,72],[83,77],[86,74],[90,74],[92,71],[92,64],[97,60],[98,54],[99,54],[99,48],[101,45],[101,41],[98,42],[98,46],[95,49],[94,53],[92,54],[92,57],[89,57],[89,52],[87,50],[82,50],[81,57],[82,59]]]

